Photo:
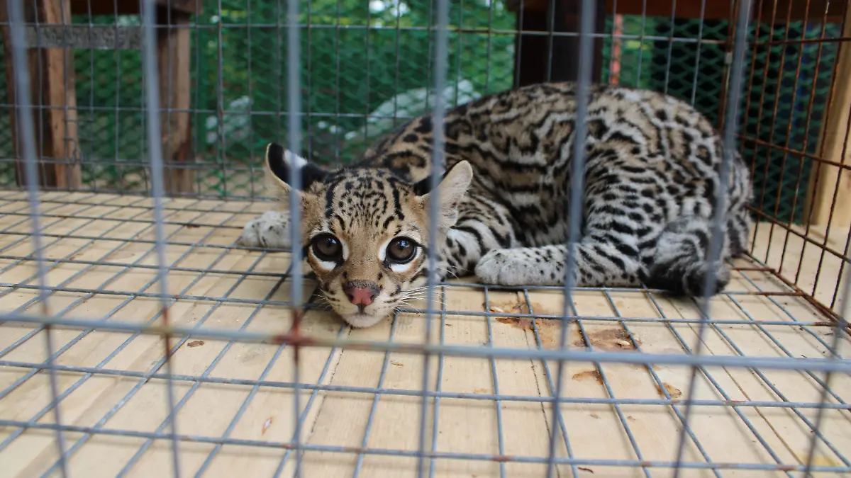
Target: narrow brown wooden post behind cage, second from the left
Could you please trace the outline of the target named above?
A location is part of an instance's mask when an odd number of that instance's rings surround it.
[[[191,99],[190,14],[159,10],[157,20],[157,60],[160,85],[160,109],[163,111],[163,161],[166,163],[166,191],[192,192],[195,170],[175,163],[190,164]],[[178,110],[178,111],[169,111]]]

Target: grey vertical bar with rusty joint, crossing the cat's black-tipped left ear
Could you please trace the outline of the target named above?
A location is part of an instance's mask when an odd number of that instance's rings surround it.
[[[300,38],[299,38],[299,1],[287,0],[287,146],[293,154],[301,152],[301,95],[300,95]],[[290,254],[292,283],[291,300],[293,301],[293,330],[298,337],[301,326],[301,316],[304,314],[302,304],[302,275],[301,275],[301,163],[292,161],[289,164],[289,213],[291,218],[290,240],[293,244]],[[301,475],[301,422],[300,413],[300,384],[299,384],[299,345],[293,347],[293,445],[295,452],[294,476]]]

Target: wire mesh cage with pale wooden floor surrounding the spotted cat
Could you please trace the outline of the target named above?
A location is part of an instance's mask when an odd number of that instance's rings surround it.
[[[0,475],[848,475],[849,15],[0,2]],[[722,292],[432,273],[352,328],[304,251],[238,242],[277,207],[271,141],[336,168],[411,118],[565,80],[579,137],[591,83],[608,83],[694,105],[740,151],[755,224]]]

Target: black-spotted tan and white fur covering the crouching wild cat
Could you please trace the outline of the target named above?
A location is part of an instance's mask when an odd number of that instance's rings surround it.
[[[730,151],[722,198],[722,141],[692,106],[598,85],[587,111],[577,285],[644,284],[697,295],[709,276],[711,292],[725,287],[724,261],[744,251],[751,222],[751,179],[740,156]],[[575,116],[571,83],[517,88],[448,111],[447,168],[438,186],[441,278],[475,273],[491,284],[563,284]],[[352,325],[371,325],[422,290],[427,251],[435,247],[428,241],[432,134],[431,117],[418,117],[366,151],[357,166],[325,172],[304,163],[301,245],[328,301]],[[287,192],[287,164],[296,158],[283,150],[277,156],[268,170]],[[711,263],[711,219],[721,199],[722,256]],[[243,243],[288,242],[282,220],[254,219]],[[318,232],[344,242],[339,264],[317,264],[309,245]],[[403,270],[382,259],[397,236],[420,245]],[[381,291],[360,314],[340,293],[352,280],[374,281]]]

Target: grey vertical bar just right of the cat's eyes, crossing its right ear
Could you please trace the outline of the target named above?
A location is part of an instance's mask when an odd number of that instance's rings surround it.
[[[434,112],[433,125],[433,155],[431,159],[431,188],[429,192],[429,230],[428,240],[431,247],[428,253],[428,280],[426,288],[426,344],[431,344],[431,324],[434,319],[434,287],[437,282],[437,218],[440,213],[440,192],[437,186],[443,172],[443,117],[445,116],[445,99],[443,87],[446,83],[447,65],[447,23],[449,16],[448,0],[437,0],[437,25],[435,27],[434,50]],[[427,88],[426,88],[427,91]],[[426,99],[426,104],[427,99]],[[424,453],[426,451],[426,415],[428,415],[428,382],[431,354],[423,356],[422,401],[420,403],[420,452],[417,454],[417,476],[422,478],[424,469]]]

